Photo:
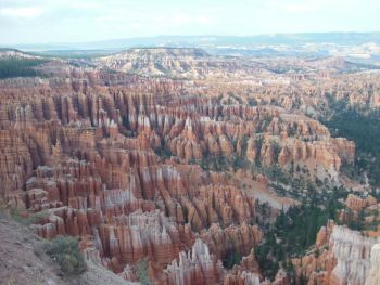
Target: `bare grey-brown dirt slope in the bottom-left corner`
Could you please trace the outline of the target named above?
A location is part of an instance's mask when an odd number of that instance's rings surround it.
[[[30,230],[2,216],[0,218],[1,284],[134,284],[92,261],[87,262],[88,270],[85,273],[78,276],[63,276],[54,261],[45,254],[42,243],[43,241]]]

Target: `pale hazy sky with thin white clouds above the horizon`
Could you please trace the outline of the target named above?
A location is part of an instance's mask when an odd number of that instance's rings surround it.
[[[379,31],[380,0],[0,0],[0,44]]]

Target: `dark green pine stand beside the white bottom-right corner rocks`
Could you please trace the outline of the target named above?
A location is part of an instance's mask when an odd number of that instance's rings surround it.
[[[327,202],[317,196],[311,203],[281,211],[265,234],[264,242],[255,248],[257,261],[265,276],[274,278],[278,269],[291,271],[290,259],[305,254],[316,239],[317,233],[329,219],[334,219],[343,206],[339,198],[344,191],[337,190]]]

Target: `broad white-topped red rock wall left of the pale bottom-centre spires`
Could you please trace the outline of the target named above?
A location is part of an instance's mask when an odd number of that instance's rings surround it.
[[[193,241],[190,229],[169,223],[159,211],[119,216],[116,225],[101,225],[94,238],[101,241],[103,256],[122,264],[148,258],[161,265],[168,264]]]

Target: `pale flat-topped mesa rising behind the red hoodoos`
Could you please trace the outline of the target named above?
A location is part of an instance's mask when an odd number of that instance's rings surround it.
[[[144,48],[96,60],[97,64],[129,74],[149,77],[206,78],[233,75],[243,67],[238,60],[212,57],[201,49]],[[254,69],[254,66],[250,67]]]

